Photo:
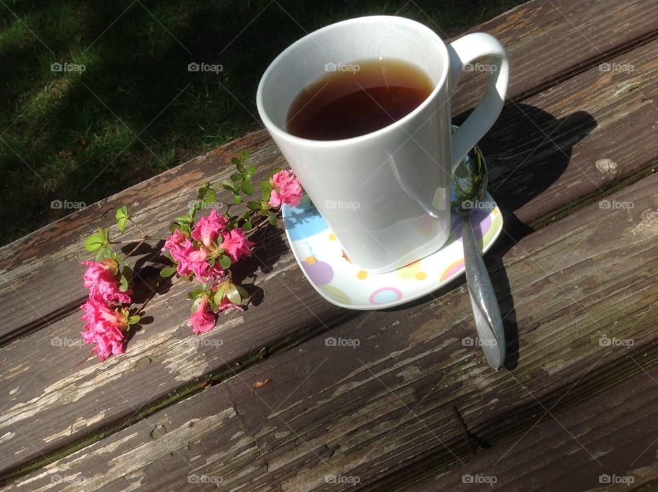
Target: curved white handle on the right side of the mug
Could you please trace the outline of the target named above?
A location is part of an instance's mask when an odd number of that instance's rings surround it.
[[[448,93],[452,97],[464,67],[479,58],[490,58],[489,84],[480,103],[459,130],[452,134],[452,172],[464,156],[485,136],[498,119],[507,93],[509,59],[498,39],[484,32],[467,34],[454,40],[448,47],[450,71]]]

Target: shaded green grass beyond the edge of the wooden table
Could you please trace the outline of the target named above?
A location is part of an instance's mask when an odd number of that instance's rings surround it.
[[[454,36],[519,3],[1,0],[0,244],[72,211],[52,200],[92,204],[260,128],[260,75],[307,32],[398,14]]]

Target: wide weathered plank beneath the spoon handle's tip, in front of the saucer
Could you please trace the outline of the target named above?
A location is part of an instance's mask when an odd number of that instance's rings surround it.
[[[424,471],[459,465],[467,447],[452,406],[481,441],[495,444],[531,428],[545,408],[569,408],[658,362],[658,312],[651,309],[658,296],[657,190],[658,176],[645,178],[611,197],[632,208],[592,204],[522,239],[504,255],[504,269],[493,266],[511,323],[511,371],[493,373],[480,350],[464,344],[474,334],[472,315],[465,293],[454,290],[415,307],[360,314],[154,419],[179,410],[187,419],[204,414],[205,406],[186,405],[226,390],[239,436],[252,436],[259,457],[253,447],[245,452],[241,439],[233,445],[210,433],[191,454],[180,452],[188,460],[200,453],[204,465],[196,471],[221,476],[227,489],[310,490],[323,486],[327,473],[368,485],[408,469],[419,473],[416,463]],[[603,335],[623,343],[602,344]],[[335,347],[327,336],[359,344]],[[267,377],[253,396],[252,382]],[[228,408],[208,398],[216,414]],[[103,446],[118,442],[109,439]],[[54,466],[92,480],[123,454]],[[149,483],[178,489],[175,480],[186,480],[180,467],[161,473],[172,461],[158,456]]]

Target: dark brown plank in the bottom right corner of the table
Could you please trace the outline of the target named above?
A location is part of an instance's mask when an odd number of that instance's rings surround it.
[[[526,434],[480,452],[465,461],[466,467],[410,489],[481,490],[482,483],[464,482],[495,477],[488,480],[495,483],[487,484],[487,490],[612,491],[637,490],[643,485],[655,490],[657,381],[657,366],[640,371],[568,411],[549,416]],[[480,478],[471,479],[476,476]]]

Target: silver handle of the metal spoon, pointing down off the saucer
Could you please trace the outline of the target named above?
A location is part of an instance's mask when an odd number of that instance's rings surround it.
[[[466,283],[471,307],[478,331],[480,346],[489,366],[500,369],[505,362],[505,333],[502,327],[500,307],[493,292],[487,267],[475,242],[470,216],[464,218],[461,227],[464,244]]]

